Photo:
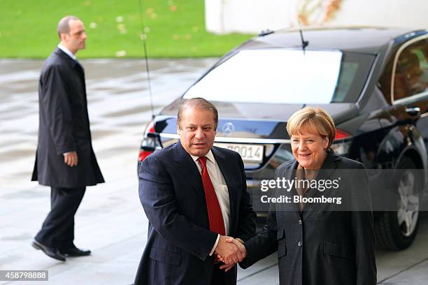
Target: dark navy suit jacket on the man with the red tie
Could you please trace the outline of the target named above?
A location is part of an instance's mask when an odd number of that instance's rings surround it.
[[[255,212],[247,192],[241,156],[213,147],[229,190],[229,235],[255,234]],[[148,240],[135,284],[209,284],[217,233],[209,230],[201,174],[180,142],[150,154],[139,173],[139,195],[149,220]],[[236,284],[236,267],[227,274]]]

